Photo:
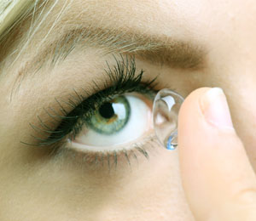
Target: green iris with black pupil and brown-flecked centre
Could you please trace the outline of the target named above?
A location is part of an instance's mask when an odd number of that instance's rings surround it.
[[[103,103],[91,116],[88,126],[98,133],[118,133],[130,117],[130,105],[125,96]]]

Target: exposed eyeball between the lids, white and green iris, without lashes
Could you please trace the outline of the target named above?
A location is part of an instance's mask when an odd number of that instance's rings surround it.
[[[152,99],[143,94],[118,95],[99,106],[71,147],[79,150],[131,149],[152,129]]]

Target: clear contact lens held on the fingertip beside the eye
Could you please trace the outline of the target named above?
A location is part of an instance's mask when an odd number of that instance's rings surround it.
[[[177,147],[177,116],[183,97],[172,90],[161,89],[154,98],[154,133],[167,150]]]

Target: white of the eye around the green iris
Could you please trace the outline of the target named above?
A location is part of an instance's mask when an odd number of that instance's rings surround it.
[[[80,150],[106,151],[130,149],[130,143],[143,136],[148,129],[152,127],[151,109],[146,103],[133,95],[125,95],[131,107],[131,115],[125,127],[119,133],[107,135],[97,133],[94,130],[84,128],[74,141],[71,141],[71,147]],[[121,144],[121,145],[120,145]]]

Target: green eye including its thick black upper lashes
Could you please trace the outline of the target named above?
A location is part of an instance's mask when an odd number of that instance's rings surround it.
[[[104,88],[95,94],[83,89],[67,100],[55,99],[55,108],[44,110],[53,120],[51,125],[38,116],[40,126],[31,126],[37,135],[40,131],[44,136],[32,135],[38,143],[35,145],[60,151],[108,153],[115,158],[117,150],[125,151],[127,158],[126,150],[134,148],[148,157],[141,146],[152,140],[148,133],[152,129],[155,79],[145,81],[143,71],[137,73],[134,59],[116,59],[116,65],[112,69],[108,65],[106,73]],[[93,85],[95,91],[100,88],[96,82]],[[72,110],[67,111],[65,105]]]

